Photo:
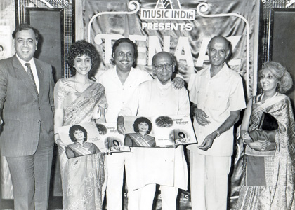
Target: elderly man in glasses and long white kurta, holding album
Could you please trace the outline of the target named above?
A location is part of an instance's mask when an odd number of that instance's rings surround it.
[[[188,92],[173,88],[171,75],[175,66],[173,55],[159,52],[153,59],[154,80],[142,83],[126,106],[123,116],[162,116],[189,114]],[[121,119],[120,119],[121,118]],[[118,118],[118,131],[124,132],[122,116]],[[152,209],[155,186],[160,185],[162,210],[176,210],[178,188],[187,189],[188,169],[183,146],[177,148],[132,148],[134,181],[130,186],[138,190],[139,210]]]

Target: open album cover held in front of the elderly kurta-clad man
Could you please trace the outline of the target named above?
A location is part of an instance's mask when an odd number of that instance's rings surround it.
[[[190,116],[125,116],[124,144],[134,147],[176,147],[195,144]]]

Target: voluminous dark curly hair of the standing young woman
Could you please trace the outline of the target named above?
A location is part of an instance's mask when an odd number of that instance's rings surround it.
[[[67,52],[67,64],[69,64],[70,71],[74,76],[76,74],[76,69],[74,68],[74,59],[77,56],[87,55],[91,58],[91,70],[88,73],[88,77],[93,79],[98,71],[98,65],[100,64],[100,57],[93,44],[79,40],[74,42],[70,50]]]

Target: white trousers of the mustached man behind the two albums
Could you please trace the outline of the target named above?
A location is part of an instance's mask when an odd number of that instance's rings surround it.
[[[133,180],[131,153],[107,155],[107,210],[122,210],[124,165],[127,187]],[[128,210],[138,210],[138,191],[128,190]]]

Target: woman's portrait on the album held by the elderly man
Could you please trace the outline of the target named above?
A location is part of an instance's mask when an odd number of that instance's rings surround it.
[[[155,137],[149,135],[152,131],[152,123],[149,119],[145,117],[136,118],[133,123],[133,129],[136,133],[125,135],[125,146],[156,146]]]

